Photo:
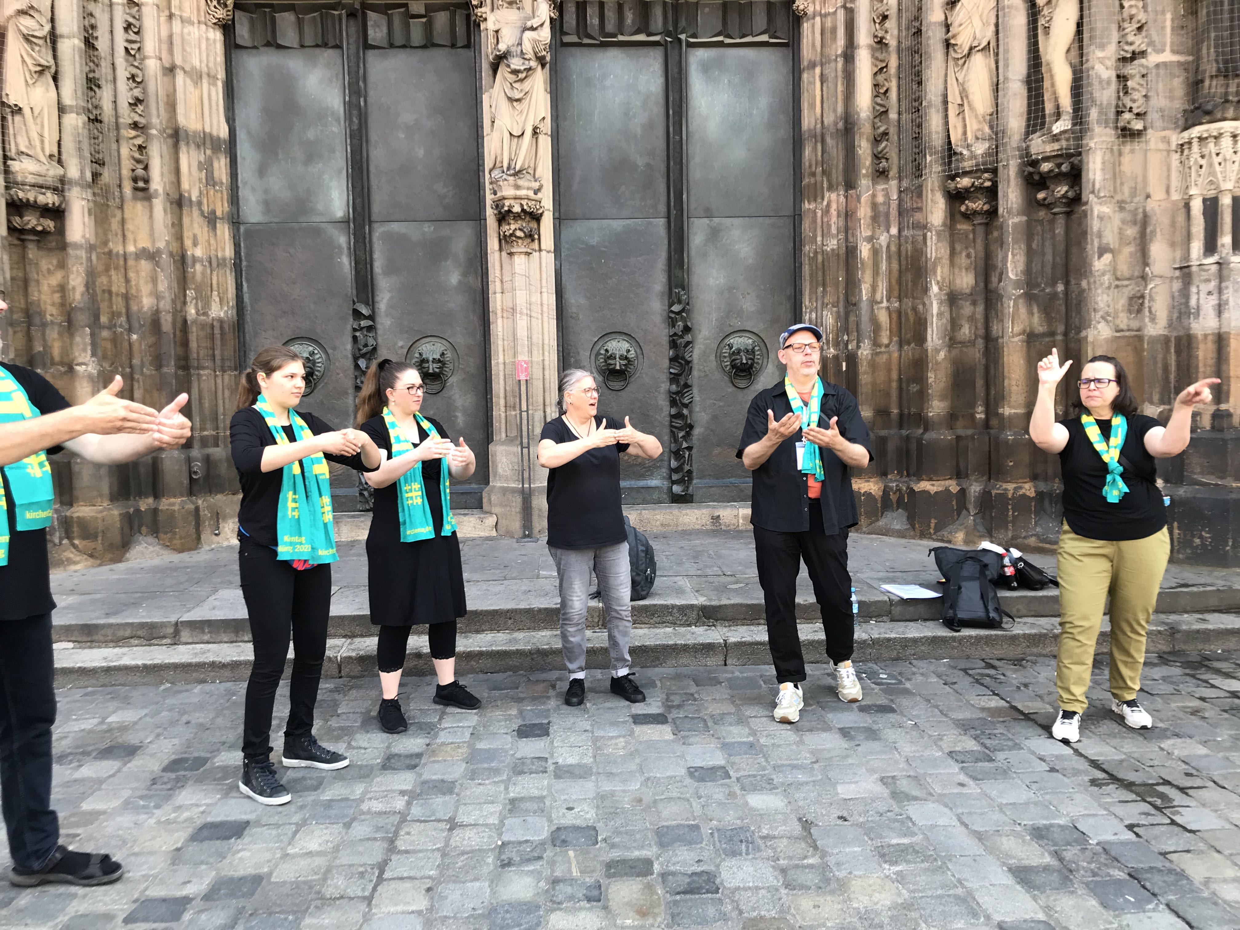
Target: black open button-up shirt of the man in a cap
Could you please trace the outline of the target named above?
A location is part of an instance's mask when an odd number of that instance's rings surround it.
[[[784,391],[784,382],[769,387],[754,397],[745,414],[745,428],[737,446],[737,458],[745,449],[766,435],[766,412],[775,414],[776,422],[792,412],[792,404]],[[869,428],[861,418],[861,409],[846,388],[822,382],[822,402],[818,407],[818,425],[831,427],[831,418],[838,417],[836,428],[849,443],[869,445]],[[796,467],[796,444],[801,430],[796,430],[771,453],[770,458],[753,471],[753,496],[749,522],[763,529],[779,533],[801,533],[810,528],[810,487],[806,475]],[[839,456],[830,449],[820,449],[822,455],[822,532],[835,536],[857,526],[857,498],[852,490],[852,472]]]

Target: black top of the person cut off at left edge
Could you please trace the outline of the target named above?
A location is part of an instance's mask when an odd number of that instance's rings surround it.
[[[69,402],[47,378],[20,365],[2,365],[14,381],[21,384],[30,398],[30,405],[43,413],[56,413],[69,407]],[[48,455],[61,451],[60,446],[47,450]],[[9,517],[9,564],[0,565],[0,620],[25,620],[27,616],[50,614],[56,609],[52,600],[51,569],[47,565],[47,531],[22,529],[17,532],[17,508],[12,506],[12,489],[9,476],[0,469],[4,480],[5,508]]]

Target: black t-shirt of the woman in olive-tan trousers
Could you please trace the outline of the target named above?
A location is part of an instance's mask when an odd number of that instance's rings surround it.
[[[1060,423],[1068,428],[1068,445],[1059,453],[1064,520],[1074,533],[1090,539],[1145,539],[1167,526],[1162,491],[1154,484],[1157,463],[1146,449],[1146,433],[1162,423],[1140,413],[1128,417],[1128,433],[1120,449],[1131,466],[1125,466],[1120,475],[1128,492],[1115,503],[1107,503],[1102,496],[1106,464],[1085,435],[1080,417]],[[1111,420],[1099,420],[1097,428],[1102,439],[1110,440]]]

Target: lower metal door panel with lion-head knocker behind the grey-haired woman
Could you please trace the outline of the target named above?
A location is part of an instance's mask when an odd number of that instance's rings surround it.
[[[658,436],[658,459],[621,459],[621,481],[657,482],[625,489],[631,503],[667,500],[667,222],[665,219],[563,219],[559,314],[564,367],[584,368],[599,382],[599,409],[627,415]],[[590,357],[600,336],[636,339],[642,361],[622,391],[603,383]],[[613,424],[609,424],[613,425]],[[622,425],[622,422],[619,424]]]

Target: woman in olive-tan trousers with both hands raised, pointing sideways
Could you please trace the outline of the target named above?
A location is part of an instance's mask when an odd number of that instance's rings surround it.
[[[1153,725],[1137,703],[1146,630],[1158,599],[1171,537],[1167,510],[1156,484],[1156,459],[1188,446],[1193,407],[1211,402],[1203,378],[1176,398],[1162,425],[1137,413],[1137,398],[1118,358],[1096,355],[1081,368],[1073,415],[1055,422],[1055,388],[1071,361],[1059,351],[1038,362],[1038,401],[1029,438],[1058,453],[1064,481],[1064,522],[1059,532],[1059,657],[1055,688],[1059,715],[1050,734],[1080,739],[1102,610],[1111,598],[1111,711],[1133,729]]]

